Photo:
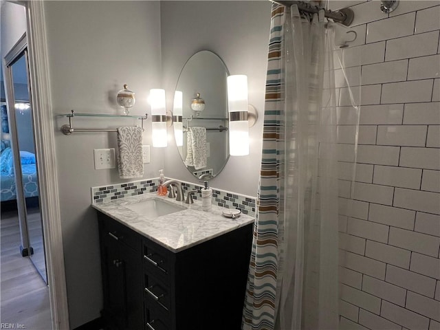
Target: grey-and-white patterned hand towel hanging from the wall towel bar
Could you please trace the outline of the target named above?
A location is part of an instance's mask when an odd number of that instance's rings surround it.
[[[136,126],[118,128],[118,169],[121,179],[144,176],[142,129]]]

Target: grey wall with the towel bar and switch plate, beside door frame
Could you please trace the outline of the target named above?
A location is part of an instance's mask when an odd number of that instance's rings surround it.
[[[98,221],[91,186],[124,181],[118,171],[95,170],[94,148],[115,148],[116,134],[63,135],[60,113],[122,113],[115,105],[124,83],[136,92],[133,114],[149,111],[148,90],[160,82],[160,15],[157,1],[46,1],[45,18],[54,112],[56,159],[67,298],[72,329],[100,316],[102,285]],[[118,127],[137,120],[75,118],[74,126]],[[151,144],[151,121],[144,143]],[[144,177],[157,176],[162,150],[153,150]]]

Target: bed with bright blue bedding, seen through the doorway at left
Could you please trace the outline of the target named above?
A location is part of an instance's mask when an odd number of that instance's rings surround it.
[[[38,197],[38,177],[34,153],[20,151],[21,172],[25,198]],[[14,158],[11,148],[5,148],[0,154],[0,200],[1,202],[17,199],[17,187],[14,177]]]

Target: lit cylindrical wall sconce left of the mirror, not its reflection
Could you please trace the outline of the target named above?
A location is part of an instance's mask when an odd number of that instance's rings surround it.
[[[153,147],[156,148],[168,145],[165,104],[165,89],[150,89],[151,134]]]

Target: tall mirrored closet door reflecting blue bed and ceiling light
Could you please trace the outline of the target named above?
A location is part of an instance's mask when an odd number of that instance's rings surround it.
[[[39,175],[35,153],[32,93],[25,35],[5,56],[8,117],[12,133],[13,164],[22,249],[47,283],[43,223],[39,197]],[[23,253],[25,255],[26,252]]]

